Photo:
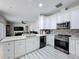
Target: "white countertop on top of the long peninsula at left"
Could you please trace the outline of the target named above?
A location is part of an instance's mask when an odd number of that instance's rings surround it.
[[[39,36],[46,36],[46,34],[27,34],[22,36],[10,36],[10,37],[5,37],[1,42],[22,40],[22,39],[26,39],[27,37],[39,37]]]

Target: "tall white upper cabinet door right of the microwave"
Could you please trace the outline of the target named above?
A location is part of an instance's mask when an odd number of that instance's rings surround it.
[[[72,11],[71,29],[79,29],[79,8]]]

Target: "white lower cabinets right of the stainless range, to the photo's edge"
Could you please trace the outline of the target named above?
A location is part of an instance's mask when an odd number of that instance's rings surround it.
[[[69,39],[69,52],[73,55],[79,56],[79,38],[71,37]]]

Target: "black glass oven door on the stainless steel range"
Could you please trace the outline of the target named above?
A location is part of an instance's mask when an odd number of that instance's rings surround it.
[[[69,42],[55,39],[55,48],[69,54]]]

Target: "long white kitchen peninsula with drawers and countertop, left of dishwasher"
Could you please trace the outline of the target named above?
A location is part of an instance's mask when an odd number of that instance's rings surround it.
[[[39,49],[39,46],[38,35],[6,37],[1,41],[0,59],[16,59]]]

